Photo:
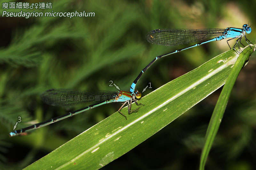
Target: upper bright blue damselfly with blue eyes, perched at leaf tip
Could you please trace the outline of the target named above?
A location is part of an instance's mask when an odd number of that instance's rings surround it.
[[[211,42],[211,41],[220,41],[223,39],[230,38],[228,41],[236,39],[236,44],[234,45],[233,49],[239,53],[235,47],[236,45],[240,49],[240,46],[238,44],[238,41],[240,42],[241,45],[241,38],[244,36],[246,43],[250,46],[250,44],[247,42],[249,41],[245,33],[251,33],[252,29],[248,24],[244,24],[243,28],[233,28],[233,27],[228,27],[226,29],[213,29],[213,28],[208,28],[208,29],[156,29],[148,33],[147,35],[147,40],[148,42],[152,44],[158,44],[158,45],[165,45],[165,46],[176,46],[176,45],[181,45],[181,44],[188,44],[188,43],[193,43],[196,41],[202,41],[205,40],[209,37],[215,36],[215,38],[212,38],[208,41],[204,41],[201,43],[197,43],[195,45],[186,47],[186,48],[181,48],[175,51],[172,51],[170,53],[164,54],[164,55],[159,55],[154,60],[152,60],[143,70],[141,70],[140,74],[137,76],[137,78],[133,81],[131,87],[130,87],[130,92],[134,94],[134,89],[139,81],[140,77],[142,74],[153,64],[155,63],[156,60],[159,58],[178,53],[180,51],[186,50],[188,48],[193,48],[197,47],[199,45]],[[251,41],[249,41],[252,43]],[[229,46],[229,44],[228,44]],[[244,45],[243,45],[244,46]],[[251,47],[251,46],[250,46]],[[229,46],[230,48],[230,46]],[[252,48],[252,47],[251,47]],[[231,49],[231,48],[230,48]],[[241,49],[240,49],[241,50]]]

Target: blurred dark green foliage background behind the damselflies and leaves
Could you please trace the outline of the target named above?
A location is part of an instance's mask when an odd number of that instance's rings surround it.
[[[95,17],[0,18],[0,169],[28,166],[120,107],[120,103],[104,105],[27,136],[10,138],[8,133],[18,116],[22,118],[17,125],[20,129],[81,108],[48,106],[40,100],[43,91],[116,91],[108,86],[110,80],[120,89],[129,90],[140,70],[155,56],[187,46],[152,45],[145,38],[149,31],[241,28],[249,21],[252,33],[247,38],[252,42],[256,38],[256,1],[51,2],[53,11],[95,12]],[[142,91],[151,82],[153,88],[143,92],[146,95],[228,49],[223,40],[165,57],[143,74],[137,88]],[[254,53],[236,81],[206,169],[250,170],[256,166],[255,67]],[[102,169],[198,169],[205,132],[220,91]]]

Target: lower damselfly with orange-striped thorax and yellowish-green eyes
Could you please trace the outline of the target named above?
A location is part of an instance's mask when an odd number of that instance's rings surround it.
[[[118,109],[118,112],[121,115],[123,115],[125,119],[127,119],[126,116],[121,112],[121,109],[124,107],[125,104],[127,104],[128,114],[135,112],[139,108],[135,110],[131,110],[132,101],[134,101],[136,105],[141,105],[141,103],[139,104],[137,103],[137,99],[140,99],[140,97],[141,97],[141,93],[138,92],[137,90],[135,91],[135,95],[132,95],[131,92],[125,92],[125,91],[92,92],[92,91],[86,91],[86,90],[73,90],[73,89],[50,89],[45,91],[41,95],[41,98],[46,104],[49,104],[52,106],[74,106],[74,105],[81,105],[85,103],[88,104],[92,102],[98,102],[98,103],[70,112],[66,115],[55,117],[44,122],[36,123],[34,125],[28,126],[26,128],[22,128],[20,130],[15,130],[13,132],[10,132],[9,136],[13,137],[20,133],[26,132],[27,130],[41,128],[51,123],[58,122],[60,120],[71,117],[73,115],[77,115],[84,111],[90,110],[94,107],[98,107],[98,106],[101,106],[107,103],[112,103],[112,102],[124,102],[123,105]]]

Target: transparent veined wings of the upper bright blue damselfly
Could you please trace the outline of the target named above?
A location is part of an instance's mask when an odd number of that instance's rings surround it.
[[[223,35],[225,29],[156,29],[150,31],[146,38],[152,44],[176,46],[202,41],[212,36]]]

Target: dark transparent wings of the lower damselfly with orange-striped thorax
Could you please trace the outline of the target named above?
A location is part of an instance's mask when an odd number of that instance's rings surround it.
[[[52,106],[72,106],[115,99],[117,95],[112,91],[50,89],[41,94],[41,99]]]

